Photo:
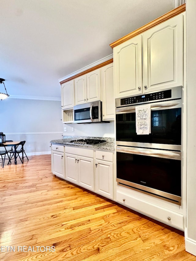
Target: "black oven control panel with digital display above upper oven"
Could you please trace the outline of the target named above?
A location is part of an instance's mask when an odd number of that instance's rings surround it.
[[[121,99],[120,104],[126,105],[126,104],[133,104],[133,103],[143,103],[143,102],[168,99],[168,98],[171,98],[171,89],[123,98]]]

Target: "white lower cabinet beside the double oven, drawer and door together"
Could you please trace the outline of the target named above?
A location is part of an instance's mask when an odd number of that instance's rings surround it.
[[[96,151],[95,192],[113,199],[113,153]]]

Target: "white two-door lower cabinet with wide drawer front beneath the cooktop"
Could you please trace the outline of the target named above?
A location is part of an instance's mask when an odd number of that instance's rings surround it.
[[[65,179],[94,191],[94,151],[66,147],[65,152]]]

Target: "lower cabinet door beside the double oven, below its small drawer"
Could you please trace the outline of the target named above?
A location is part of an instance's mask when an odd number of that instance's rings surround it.
[[[96,159],[95,192],[113,199],[113,163]]]

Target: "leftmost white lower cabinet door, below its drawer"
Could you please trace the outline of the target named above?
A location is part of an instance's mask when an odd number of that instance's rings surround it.
[[[65,179],[64,152],[52,151],[52,173]]]

